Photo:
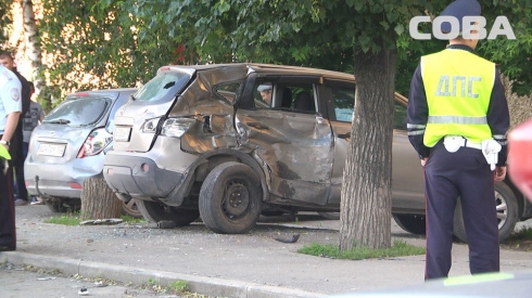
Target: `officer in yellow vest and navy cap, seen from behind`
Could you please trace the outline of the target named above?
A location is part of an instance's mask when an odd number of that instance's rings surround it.
[[[456,17],[461,31],[464,16],[480,12],[478,1],[456,0],[441,15]],[[443,33],[451,29],[442,24]],[[499,271],[494,182],[506,176],[509,114],[499,72],[474,52],[477,43],[459,35],[445,50],[422,56],[410,85],[408,138],[426,181],[426,280],[451,270],[458,197],[471,274]]]

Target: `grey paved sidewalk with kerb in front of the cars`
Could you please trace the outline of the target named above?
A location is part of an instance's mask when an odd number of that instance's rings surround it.
[[[17,251],[0,262],[59,269],[165,285],[187,281],[191,290],[216,297],[324,297],[422,282],[425,256],[337,260],[297,254],[308,243],[338,244],[339,222],[317,215],[266,218],[245,235],[219,235],[202,223],[160,230],[153,224],[64,226],[43,223],[46,206],[17,207]],[[300,234],[294,244],[274,237]],[[392,224],[392,236],[423,246],[425,238]],[[531,252],[502,250],[502,271],[532,271]],[[453,248],[452,276],[469,273],[467,246]]]

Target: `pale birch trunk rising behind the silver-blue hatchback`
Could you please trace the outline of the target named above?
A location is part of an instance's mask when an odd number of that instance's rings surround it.
[[[39,43],[39,29],[35,23],[33,2],[24,0],[22,10],[24,15],[24,36],[26,38],[26,56],[31,62],[31,80],[34,81],[35,93],[39,94],[45,87],[45,78],[40,72],[42,68],[42,53]],[[50,107],[50,102],[46,103],[45,106]]]

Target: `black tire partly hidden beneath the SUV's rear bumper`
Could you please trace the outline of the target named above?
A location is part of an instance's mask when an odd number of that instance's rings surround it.
[[[182,207],[172,207],[162,203],[137,199],[137,208],[149,222],[160,222],[170,220],[176,226],[185,226],[200,217],[198,209],[185,209]]]

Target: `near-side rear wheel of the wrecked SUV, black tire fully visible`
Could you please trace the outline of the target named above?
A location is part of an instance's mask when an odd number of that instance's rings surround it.
[[[201,186],[200,215],[215,233],[246,233],[255,226],[261,211],[261,181],[246,165],[224,163],[208,173]]]

